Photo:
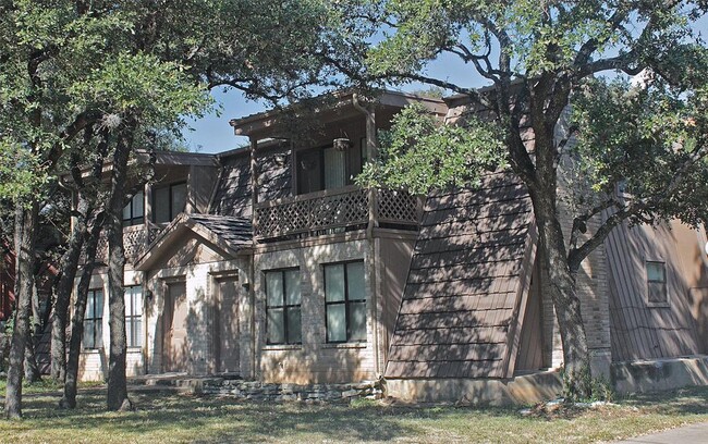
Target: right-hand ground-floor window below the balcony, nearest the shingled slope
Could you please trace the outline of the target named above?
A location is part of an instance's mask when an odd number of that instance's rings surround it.
[[[364,262],[325,266],[327,342],[366,341]]]

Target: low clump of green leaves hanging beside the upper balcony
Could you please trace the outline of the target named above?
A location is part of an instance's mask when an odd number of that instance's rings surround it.
[[[366,165],[362,184],[426,194],[452,184],[477,185],[485,171],[505,165],[499,127],[474,118],[465,126],[442,125],[422,106],[411,106],[379,136],[381,158]]]

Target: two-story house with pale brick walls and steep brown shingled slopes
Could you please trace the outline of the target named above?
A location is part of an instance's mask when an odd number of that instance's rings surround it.
[[[384,375],[399,396],[439,398],[469,381],[559,367],[547,272],[518,180],[489,174],[480,189],[434,193],[425,205],[353,184],[377,156],[376,131],[413,102],[448,123],[477,112],[461,98],[383,92],[363,107],[342,92],[300,118],[232,121],[249,148],[159,153],[157,183],[124,211],[129,374]],[[578,273],[601,372],[707,351],[705,232],[671,225],[617,230]],[[84,379],[107,372],[107,291],[99,268]]]

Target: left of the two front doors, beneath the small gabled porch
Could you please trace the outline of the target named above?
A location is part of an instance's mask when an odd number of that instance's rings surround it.
[[[166,285],[162,321],[162,369],[166,372],[187,371],[187,301],[184,282]]]

